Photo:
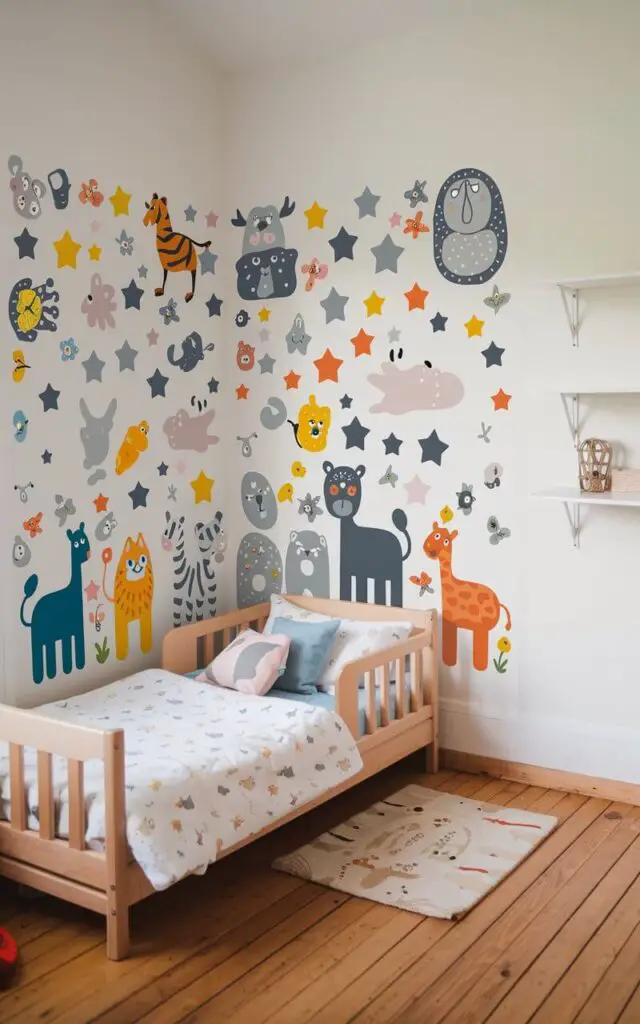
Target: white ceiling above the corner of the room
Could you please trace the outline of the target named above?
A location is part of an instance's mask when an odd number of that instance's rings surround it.
[[[216,68],[260,69],[329,59],[428,24],[426,0],[157,0]]]

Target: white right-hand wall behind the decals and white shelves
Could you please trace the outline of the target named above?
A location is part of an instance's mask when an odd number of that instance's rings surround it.
[[[390,510],[401,502],[376,482],[393,461],[382,454],[380,438],[390,429],[403,437],[420,436],[424,420],[416,414],[392,423],[372,417],[368,409],[374,392],[366,374],[379,366],[392,326],[404,332],[416,356],[428,352],[441,369],[460,372],[465,402],[458,413],[441,413],[437,420],[438,431],[441,423],[452,444],[446,468],[416,465],[410,444],[394,468],[400,481],[418,471],[432,486],[424,509],[408,508],[419,548],[439,509],[455,503],[461,480],[471,476],[477,492],[484,462],[495,458],[505,465],[500,494],[492,493],[489,501],[482,493],[472,516],[466,520],[457,513],[453,525],[461,531],[458,573],[489,584],[511,606],[513,651],[506,675],[476,673],[470,668],[468,635],[463,636],[458,668],[443,673],[443,741],[637,782],[640,518],[635,512],[590,513],[581,550],[574,551],[562,507],[536,504],[528,495],[574,479],[575,457],[553,392],[575,384],[637,384],[640,292],[591,301],[582,345],[574,351],[558,295],[544,286],[561,276],[638,269],[640,205],[633,198],[633,174],[640,11],[633,2],[460,2],[429,5],[425,16],[424,25],[408,26],[407,39],[385,40],[348,59],[332,62],[327,54],[327,63],[304,66],[301,45],[297,67],[283,67],[272,76],[247,68],[225,89],[227,206],[246,212],[255,203],[278,203],[289,194],[298,211],[287,239],[300,250],[299,264],[312,256],[330,264],[328,281],[312,297],[299,287],[292,300],[267,303],[273,309],[272,335],[262,347],[279,357],[276,376],[290,369],[284,334],[300,308],[313,342],[309,360],[297,368],[303,373],[297,394],[313,390],[310,360],[326,345],[345,359],[340,384],[321,385],[318,392],[335,414],[326,456],[334,462],[351,462],[354,456],[367,464],[365,517],[386,527]],[[506,204],[510,247],[496,280],[513,299],[495,321],[481,301],[490,289],[443,282],[428,242],[402,242],[409,251],[397,281],[390,274],[375,276],[366,252],[381,241],[394,209],[407,214],[402,193],[417,176],[427,177],[433,201],[447,174],[466,166],[493,175]],[[365,184],[382,196],[377,221],[355,219],[352,197]],[[302,215],[313,200],[329,209],[324,232],[308,231]],[[360,258],[334,265],[327,240],[342,223],[360,236]],[[231,244],[236,256],[240,237]],[[428,324],[416,327],[423,314],[402,312],[401,293],[414,280],[431,293],[428,315],[442,308],[450,327],[455,325],[445,336],[431,335]],[[351,302],[347,323],[326,328],[317,299],[332,284]],[[362,367],[368,360],[352,359],[348,339],[358,327],[371,326],[361,321],[360,300],[374,287],[392,298],[388,315],[375,324],[380,335],[376,356]],[[507,349],[502,371],[483,369],[477,339],[467,340],[462,328],[471,312],[480,316],[482,310],[482,340],[494,339]],[[242,336],[261,346],[257,330]],[[513,394],[508,414],[490,414],[489,379]],[[243,417],[238,433],[256,428],[269,393],[283,393],[296,411],[296,393],[285,393],[280,378],[272,385],[254,375],[252,384],[250,401],[238,407]],[[337,402],[344,391],[357,396],[354,408],[372,428],[373,443],[365,453],[345,452],[340,425],[348,422],[347,414]],[[495,422],[490,447],[476,440],[480,419]],[[624,440],[628,464],[637,466],[638,422],[636,399],[613,401],[594,410],[588,432]],[[429,420],[427,430],[431,425]],[[289,478],[293,458],[295,446],[284,431],[263,435],[254,468],[279,486]],[[322,459],[308,461],[310,472],[301,483],[306,489],[309,482],[319,494]],[[234,487],[245,469],[237,453]],[[512,538],[497,549],[486,544],[490,512],[512,529]],[[281,508],[270,535],[283,555],[289,530],[301,524],[295,508]],[[315,526],[330,540],[336,590],[336,522],[325,515]],[[239,520],[234,541],[249,528]],[[412,571],[421,567],[428,566],[420,557],[408,563]],[[434,575],[437,585],[437,571]],[[406,599],[410,589],[406,584]]]

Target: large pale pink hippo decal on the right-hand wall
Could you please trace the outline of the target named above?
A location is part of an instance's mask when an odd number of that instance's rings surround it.
[[[401,416],[430,409],[451,409],[462,401],[465,393],[459,377],[441,373],[428,359],[407,370],[383,362],[381,372],[370,374],[367,379],[383,394],[380,401],[371,407],[371,413]]]

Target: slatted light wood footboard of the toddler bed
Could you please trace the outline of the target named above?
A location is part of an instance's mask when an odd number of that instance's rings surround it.
[[[106,954],[129,948],[125,745],[122,730],[103,731],[0,706],[0,741],[9,751],[10,821],[0,821],[0,874],[78,903],[106,919]],[[29,827],[25,750],[36,751],[38,829]],[[65,758],[69,779],[69,839],[55,837],[52,762]],[[105,846],[85,845],[84,765],[104,765]]]

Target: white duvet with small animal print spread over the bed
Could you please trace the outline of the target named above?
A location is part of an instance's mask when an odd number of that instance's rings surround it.
[[[47,718],[124,729],[127,839],[155,889],[203,872],[219,853],[355,775],[355,740],[333,712],[237,693],[154,669],[69,700]],[[9,816],[0,743],[0,816]],[[37,828],[36,755],[25,751],[30,827]],[[56,834],[68,835],[67,769],[54,759]],[[86,842],[104,840],[102,764],[85,766]]]

